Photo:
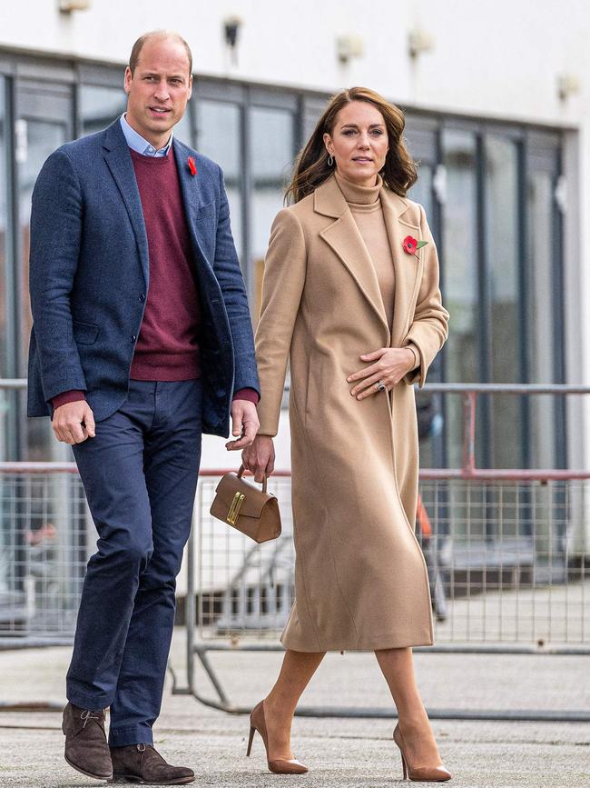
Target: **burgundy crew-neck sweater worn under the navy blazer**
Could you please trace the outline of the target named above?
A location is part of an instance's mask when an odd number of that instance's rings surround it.
[[[142,200],[150,255],[150,286],[130,377],[145,381],[193,380],[201,376],[199,329],[201,304],[191,237],[182,204],[176,160],[130,149]],[[144,296],[140,296],[144,297]],[[258,404],[253,389],[233,399]],[[53,398],[54,408],[84,400],[84,392],[68,391]]]

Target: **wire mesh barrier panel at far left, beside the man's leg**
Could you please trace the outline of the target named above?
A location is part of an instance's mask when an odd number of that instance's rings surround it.
[[[0,645],[71,642],[93,530],[77,474],[0,473]]]

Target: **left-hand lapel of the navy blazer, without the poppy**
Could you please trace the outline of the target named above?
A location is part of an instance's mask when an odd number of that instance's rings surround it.
[[[147,292],[149,254],[145,222],[143,221],[142,201],[137,188],[137,181],[135,180],[135,171],[133,170],[133,161],[129,153],[129,147],[118,119],[106,129],[103,149],[104,159],[123,197],[123,203],[133,227]]]

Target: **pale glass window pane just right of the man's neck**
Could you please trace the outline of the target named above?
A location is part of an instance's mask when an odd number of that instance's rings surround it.
[[[231,234],[243,266],[240,193],[240,107],[202,99],[197,104],[197,150],[221,166],[230,203]]]

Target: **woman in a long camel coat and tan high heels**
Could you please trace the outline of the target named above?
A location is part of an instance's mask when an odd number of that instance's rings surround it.
[[[374,651],[398,710],[410,779],[444,781],[411,646],[432,643],[428,574],[414,534],[414,390],[447,338],[438,257],[397,107],[336,95],[300,154],[270,234],[256,350],[260,433],[242,454],[261,481],[290,360],[295,596],[286,653],[251,714],[271,771],[303,773],[290,724],[324,653]],[[251,742],[250,742],[251,744]],[[250,746],[249,746],[250,753]]]

